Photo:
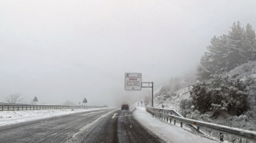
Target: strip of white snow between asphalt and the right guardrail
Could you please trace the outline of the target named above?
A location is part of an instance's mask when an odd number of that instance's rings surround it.
[[[152,131],[154,134],[159,136],[159,138],[162,138],[163,142],[217,142],[189,131],[186,128],[181,128],[178,125],[172,125],[170,123],[160,121],[147,113],[144,107],[136,107],[136,110],[133,112],[133,117],[146,127],[146,129]]]

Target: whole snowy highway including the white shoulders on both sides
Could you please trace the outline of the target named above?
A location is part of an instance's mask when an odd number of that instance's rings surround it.
[[[216,142],[137,107],[0,112],[3,142]]]

